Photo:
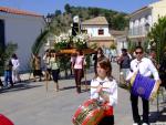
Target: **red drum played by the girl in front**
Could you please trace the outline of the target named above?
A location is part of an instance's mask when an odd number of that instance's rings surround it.
[[[104,117],[104,110],[97,100],[87,100],[76,110],[72,121],[74,125],[97,125]]]

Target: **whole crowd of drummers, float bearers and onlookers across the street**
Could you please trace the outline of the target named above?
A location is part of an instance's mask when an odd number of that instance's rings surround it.
[[[124,76],[125,82],[128,83],[133,73],[139,73],[146,77],[153,76],[155,81],[162,83],[163,86],[166,86],[166,52],[164,53],[164,60],[160,64],[157,64],[156,53],[153,50],[151,51],[149,56],[145,56],[143,48],[136,46],[134,53],[134,55],[131,55],[127,52],[127,49],[122,49],[122,54],[117,58],[117,64],[120,64],[120,70]],[[59,91],[59,56],[56,53],[46,51],[43,60],[45,64],[45,80],[53,80],[55,85],[54,90]],[[105,116],[102,118],[98,125],[114,125],[113,107],[117,104],[117,83],[112,76],[111,60],[104,55],[102,48],[98,48],[93,56],[93,61],[94,77],[92,79],[90,85],[90,97],[104,104],[103,108],[105,112]],[[76,53],[71,55],[71,74],[74,73],[77,94],[82,92],[81,81],[84,76],[85,64],[85,55],[83,54],[82,50],[76,50]],[[4,84],[0,81],[1,86],[8,87],[9,83],[10,86],[13,86],[14,83],[21,82],[19,66],[20,63],[17,54],[12,54],[11,59],[6,61]],[[39,76],[39,81],[41,81],[41,77],[43,76],[41,69],[41,58],[37,54],[33,55],[32,67],[34,81],[37,81],[37,76]],[[158,71],[160,73],[158,73]],[[143,102],[143,118],[138,113],[138,95],[135,95],[131,91],[131,106],[134,121],[133,125],[149,125],[149,101],[144,97],[141,98]]]

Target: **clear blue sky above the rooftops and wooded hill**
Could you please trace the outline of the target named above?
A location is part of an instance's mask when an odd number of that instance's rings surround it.
[[[1,7],[11,7],[45,15],[55,10],[64,10],[64,4],[98,7],[131,13],[158,0],[0,0]]]

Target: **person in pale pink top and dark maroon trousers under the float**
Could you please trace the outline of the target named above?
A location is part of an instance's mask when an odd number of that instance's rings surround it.
[[[77,94],[81,93],[81,80],[83,77],[84,55],[81,50],[76,50],[76,58],[74,63],[74,76]]]

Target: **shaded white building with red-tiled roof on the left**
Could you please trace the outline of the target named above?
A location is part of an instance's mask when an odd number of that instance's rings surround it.
[[[31,46],[43,31],[45,21],[43,15],[18,9],[0,7],[0,43],[18,44],[17,55],[20,59],[20,70],[29,66]]]

